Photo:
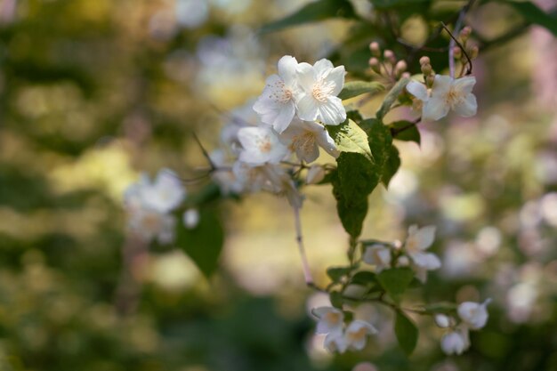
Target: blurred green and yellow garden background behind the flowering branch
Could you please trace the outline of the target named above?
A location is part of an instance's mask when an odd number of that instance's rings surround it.
[[[137,305],[119,310],[123,192],[139,173],[206,166],[192,132],[216,148],[226,113],[261,93],[284,54],[368,75],[367,44],[381,35],[354,21],[258,32],[307,3],[0,0],[0,371],[333,371],[364,361],[374,366],[358,371],[557,370],[557,43],[536,26],[498,40],[522,22],[505,4],[468,19],[483,48],[478,115],[420,125],[421,147],[397,143],[400,172],[375,190],[363,233],[389,240],[411,223],[437,225],[443,269],[416,301],[492,297],[470,351],[444,356],[440,329],[417,318],[407,359],[391,314],[366,306],[358,311],[380,329],[367,350],[323,351],[308,308],[327,299],[303,285],[286,200],[265,194],[222,205],[214,278],[180,250],[152,246],[131,267]],[[429,3],[439,14],[464,4]],[[369,2],[352,4],[373,18]],[[422,43],[428,21],[401,15],[402,37]],[[362,112],[373,116],[380,101]],[[396,115],[412,114],[387,121]],[[330,192],[307,189],[302,214],[323,285],[326,268],[346,262]]]

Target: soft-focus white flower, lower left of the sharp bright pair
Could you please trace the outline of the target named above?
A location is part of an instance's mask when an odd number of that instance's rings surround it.
[[[250,165],[277,164],[287,156],[288,149],[270,127],[243,127],[238,130],[242,144],[240,161]]]

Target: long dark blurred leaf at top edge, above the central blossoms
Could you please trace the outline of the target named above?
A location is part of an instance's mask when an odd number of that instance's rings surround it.
[[[282,28],[330,18],[357,19],[356,12],[348,0],[319,0],[304,5],[282,20],[276,20],[261,28],[261,32],[274,32]]]

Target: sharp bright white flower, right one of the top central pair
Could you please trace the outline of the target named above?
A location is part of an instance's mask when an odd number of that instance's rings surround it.
[[[338,125],[346,120],[343,101],[337,97],[344,85],[344,66],[334,67],[330,60],[318,60],[313,66],[298,65],[298,84],[302,89],[296,107],[304,121],[319,120]]]

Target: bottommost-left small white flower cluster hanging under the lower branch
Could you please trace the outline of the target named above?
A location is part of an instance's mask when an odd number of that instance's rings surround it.
[[[333,307],[319,307],[311,311],[319,319],[317,334],[327,335],[325,347],[328,351],[361,351],[367,343],[367,335],[377,334],[377,330],[367,321],[354,319],[344,324],[343,311]]]

